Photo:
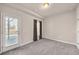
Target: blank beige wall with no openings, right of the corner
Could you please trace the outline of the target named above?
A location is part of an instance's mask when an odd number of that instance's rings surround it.
[[[72,10],[45,19],[43,38],[76,44],[76,11]]]

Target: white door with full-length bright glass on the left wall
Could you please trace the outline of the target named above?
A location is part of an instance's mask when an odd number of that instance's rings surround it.
[[[5,16],[3,19],[3,52],[19,46],[19,19]]]

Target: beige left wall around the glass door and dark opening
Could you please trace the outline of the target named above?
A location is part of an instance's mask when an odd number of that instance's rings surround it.
[[[5,16],[16,17],[19,19],[19,23],[20,23],[19,24],[19,26],[20,26],[20,28],[19,28],[19,30],[20,30],[19,31],[20,32],[19,33],[20,34],[20,36],[19,36],[20,44],[19,45],[25,45],[30,42],[33,42],[33,20],[37,19],[37,20],[42,21],[41,19],[31,16],[31,15],[24,13],[22,11],[19,11],[17,9],[8,7],[8,6],[2,6],[1,12],[3,14],[3,19]],[[12,47],[5,48],[4,44],[5,43],[3,42],[3,50],[4,51],[15,47],[15,46],[12,46]]]

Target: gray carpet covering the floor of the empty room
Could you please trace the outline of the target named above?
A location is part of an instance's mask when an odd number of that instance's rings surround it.
[[[41,39],[5,52],[3,55],[79,55],[79,49],[71,44]]]

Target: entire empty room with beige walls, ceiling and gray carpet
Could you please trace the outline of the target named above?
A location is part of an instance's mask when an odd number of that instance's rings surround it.
[[[0,3],[0,55],[79,55],[79,4]]]

